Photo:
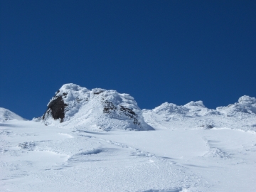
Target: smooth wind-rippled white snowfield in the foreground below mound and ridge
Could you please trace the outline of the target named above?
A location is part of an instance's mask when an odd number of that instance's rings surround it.
[[[255,134],[186,123],[154,132],[89,132],[6,121],[0,191],[256,190]]]

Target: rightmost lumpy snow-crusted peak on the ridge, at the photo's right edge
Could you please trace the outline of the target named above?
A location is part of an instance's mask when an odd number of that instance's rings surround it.
[[[256,98],[244,95],[239,98],[238,102],[226,107],[217,107],[217,110],[227,116],[245,116],[256,114]]]

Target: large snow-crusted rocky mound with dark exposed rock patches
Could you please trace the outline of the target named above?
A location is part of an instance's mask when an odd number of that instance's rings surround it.
[[[95,88],[87,90],[65,84],[48,103],[39,119],[44,124],[108,131],[110,129],[153,130],[144,122],[142,110],[129,94]]]

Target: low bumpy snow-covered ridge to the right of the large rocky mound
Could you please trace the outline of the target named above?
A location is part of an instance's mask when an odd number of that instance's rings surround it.
[[[186,105],[175,105],[165,102],[153,110],[142,110],[145,122],[152,127],[188,127],[209,129],[229,127],[244,131],[256,131],[256,99],[242,96],[237,103],[227,107],[208,109],[202,101],[188,102]]]

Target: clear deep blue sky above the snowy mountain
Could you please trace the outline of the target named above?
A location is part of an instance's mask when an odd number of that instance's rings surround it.
[[[255,0],[0,0],[0,16],[0,107],[27,119],[69,82],[142,109],[256,97]]]

